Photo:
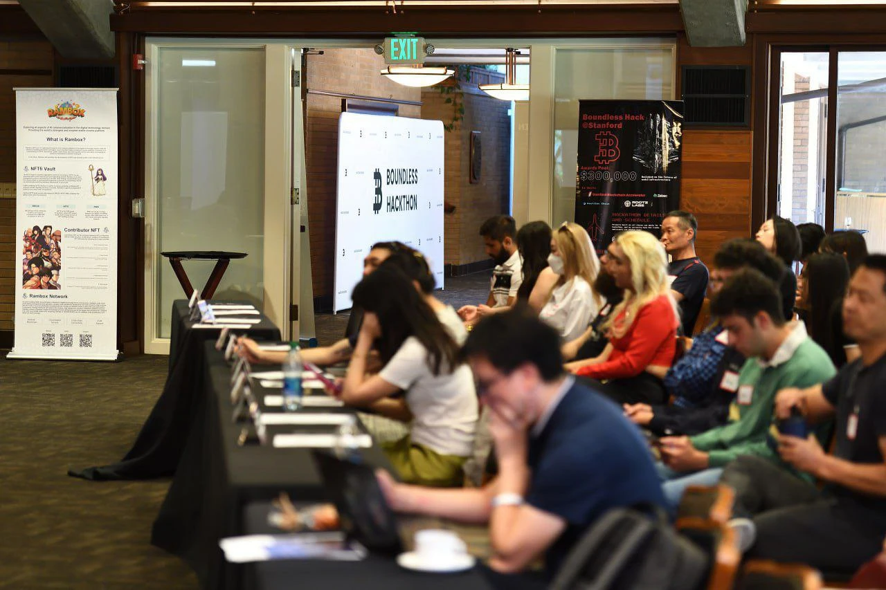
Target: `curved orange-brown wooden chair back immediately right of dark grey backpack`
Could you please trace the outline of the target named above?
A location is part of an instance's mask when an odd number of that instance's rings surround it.
[[[732,590],[742,555],[734,531],[725,523],[697,516],[680,518],[674,525],[680,534],[708,554],[708,590]]]

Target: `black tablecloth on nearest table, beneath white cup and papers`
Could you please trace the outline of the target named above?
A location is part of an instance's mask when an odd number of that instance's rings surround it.
[[[253,502],[245,510],[246,534],[279,533],[268,525],[268,502]],[[287,560],[247,563],[250,590],[284,590],[295,587],[323,590],[487,590],[490,586],[474,568],[447,574],[429,574],[401,568],[389,555],[370,554],[361,562]]]

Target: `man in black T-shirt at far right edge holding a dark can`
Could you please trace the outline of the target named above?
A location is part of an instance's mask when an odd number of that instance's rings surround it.
[[[736,488],[739,513],[756,514],[750,526],[734,523],[750,557],[848,575],[880,553],[886,535],[886,255],[868,256],[852,275],[843,323],[861,358],[824,384],[775,398],[781,418],[792,408],[809,423],[835,418],[833,454],[814,438],[778,438],[781,458],[824,487],[750,462],[723,478]]]

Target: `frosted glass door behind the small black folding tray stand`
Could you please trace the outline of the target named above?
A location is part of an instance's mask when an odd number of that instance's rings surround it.
[[[161,252],[243,252],[214,299],[288,322],[291,48],[282,43],[149,40],[146,75],[144,350],[167,353],[172,305],[185,298]],[[293,101],[293,98],[294,102]],[[281,125],[284,122],[284,125]],[[201,290],[213,260],[184,260]],[[296,299],[297,296],[296,296]]]

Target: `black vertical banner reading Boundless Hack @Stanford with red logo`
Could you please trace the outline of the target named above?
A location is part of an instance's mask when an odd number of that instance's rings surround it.
[[[579,101],[575,222],[598,253],[619,231],[661,233],[680,208],[680,100]]]

